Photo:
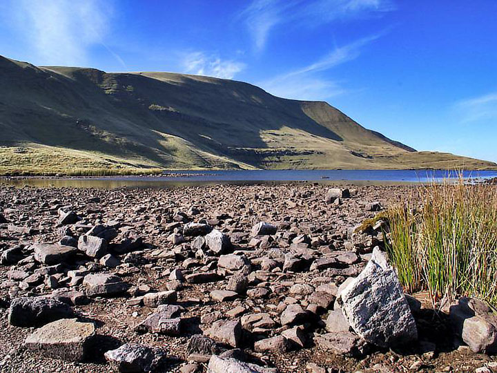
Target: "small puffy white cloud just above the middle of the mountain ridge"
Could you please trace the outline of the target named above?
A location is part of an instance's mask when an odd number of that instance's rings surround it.
[[[217,55],[205,52],[189,52],[182,61],[184,73],[207,75],[222,79],[233,79],[245,68],[245,64],[233,59],[223,60]]]

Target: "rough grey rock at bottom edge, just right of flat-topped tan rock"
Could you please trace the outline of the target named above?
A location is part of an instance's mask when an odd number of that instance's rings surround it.
[[[123,373],[142,373],[155,370],[166,356],[163,350],[126,343],[104,354],[110,367]]]

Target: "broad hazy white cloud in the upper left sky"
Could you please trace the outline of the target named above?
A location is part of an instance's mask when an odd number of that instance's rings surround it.
[[[13,27],[39,64],[84,66],[90,48],[101,45],[124,66],[104,43],[112,14],[110,1],[12,0],[8,9],[15,19]]]

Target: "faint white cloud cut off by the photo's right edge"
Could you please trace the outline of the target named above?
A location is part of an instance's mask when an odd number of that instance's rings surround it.
[[[479,97],[464,99],[455,105],[463,123],[497,122],[497,92],[487,93]]]

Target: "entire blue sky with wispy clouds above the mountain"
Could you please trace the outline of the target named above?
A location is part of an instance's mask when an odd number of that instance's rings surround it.
[[[2,0],[0,54],[242,80],[497,162],[496,19],[496,0]]]

